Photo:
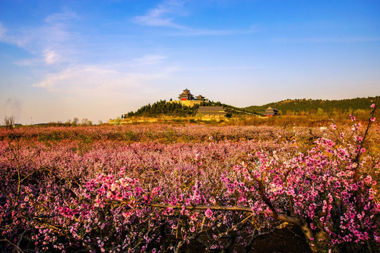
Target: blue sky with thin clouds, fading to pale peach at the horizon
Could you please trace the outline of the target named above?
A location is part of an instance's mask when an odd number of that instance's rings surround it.
[[[380,1],[0,1],[0,117],[380,95]]]

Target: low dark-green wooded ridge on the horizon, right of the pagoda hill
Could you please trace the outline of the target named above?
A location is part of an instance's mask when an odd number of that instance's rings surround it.
[[[322,99],[286,99],[275,103],[267,103],[265,105],[251,105],[246,108],[250,112],[264,112],[268,107],[276,108],[283,115],[290,114],[310,114],[323,110],[323,112],[353,112],[355,110],[369,110],[372,103],[378,103],[380,96],[367,98],[350,98],[342,100],[322,100]]]

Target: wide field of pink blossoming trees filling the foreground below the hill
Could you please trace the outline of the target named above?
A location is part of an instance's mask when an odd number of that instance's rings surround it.
[[[373,109],[328,129],[0,129],[0,252],[260,252],[293,228],[310,252],[379,252]]]

